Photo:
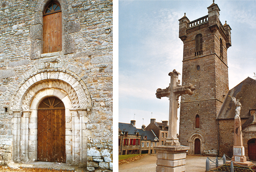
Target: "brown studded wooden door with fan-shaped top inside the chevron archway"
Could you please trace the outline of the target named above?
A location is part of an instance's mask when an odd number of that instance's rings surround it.
[[[65,106],[57,97],[43,99],[37,110],[37,160],[66,162]]]

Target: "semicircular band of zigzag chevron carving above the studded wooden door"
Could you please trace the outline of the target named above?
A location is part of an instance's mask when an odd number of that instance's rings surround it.
[[[48,70],[48,69],[47,69]],[[72,72],[70,72],[72,74]],[[64,90],[71,100],[72,108],[87,108],[91,107],[88,104],[90,101],[89,92],[83,84],[81,79],[73,77],[72,75],[64,72],[59,72],[56,69],[50,72],[42,71],[31,75],[26,79],[13,98],[13,110],[29,110],[30,103],[33,97],[42,89],[45,88],[59,88]]]

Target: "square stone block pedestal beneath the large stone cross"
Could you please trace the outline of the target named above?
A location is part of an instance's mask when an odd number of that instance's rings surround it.
[[[157,151],[156,172],[185,172],[187,146],[158,146],[154,147]]]

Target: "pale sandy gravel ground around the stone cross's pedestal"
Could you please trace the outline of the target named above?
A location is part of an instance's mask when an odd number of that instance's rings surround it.
[[[187,155],[186,171],[187,172],[205,172],[205,162],[207,157],[200,155]],[[210,158],[214,160],[214,157]],[[118,166],[119,172],[155,172],[156,171],[156,155],[148,155],[126,164]]]

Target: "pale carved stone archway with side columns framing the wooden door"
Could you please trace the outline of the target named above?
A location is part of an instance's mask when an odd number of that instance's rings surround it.
[[[13,161],[37,159],[37,108],[46,97],[58,97],[65,105],[66,163],[86,166],[87,137],[83,137],[91,99],[85,83],[70,71],[41,69],[26,78],[12,97]]]

